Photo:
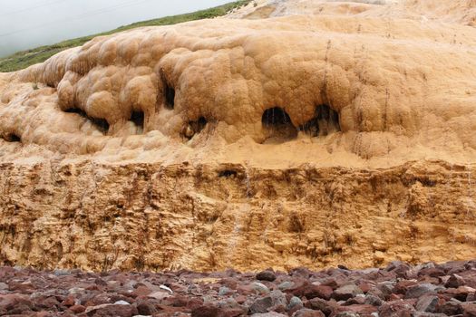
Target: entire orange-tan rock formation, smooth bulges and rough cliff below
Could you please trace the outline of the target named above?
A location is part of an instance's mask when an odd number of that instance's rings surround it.
[[[476,29],[454,4],[258,2],[0,74],[2,261],[471,258]]]

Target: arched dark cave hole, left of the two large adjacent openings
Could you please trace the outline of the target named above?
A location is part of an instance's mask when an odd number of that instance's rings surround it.
[[[294,139],[297,136],[296,127],[283,108],[274,107],[265,110],[261,117],[261,123],[267,134],[267,139]]]

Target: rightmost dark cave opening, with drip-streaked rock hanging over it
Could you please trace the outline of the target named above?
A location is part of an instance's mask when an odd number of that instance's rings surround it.
[[[299,127],[311,137],[321,137],[341,130],[339,123],[339,113],[326,104],[316,107],[313,119],[308,120]]]

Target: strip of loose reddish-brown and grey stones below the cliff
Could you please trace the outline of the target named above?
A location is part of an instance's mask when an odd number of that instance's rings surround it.
[[[312,272],[0,268],[2,316],[476,316],[476,261]]]

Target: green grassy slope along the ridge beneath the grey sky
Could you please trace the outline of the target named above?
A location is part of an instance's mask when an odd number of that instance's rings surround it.
[[[32,50],[18,52],[13,55],[0,59],[0,72],[15,72],[15,71],[24,69],[30,65],[33,65],[35,63],[44,62],[48,58],[53,56],[55,53],[60,53],[61,51],[64,51],[72,47],[81,46],[83,45],[83,43],[86,43],[92,40],[92,38],[99,35],[114,34],[114,33],[130,30],[136,27],[141,27],[141,26],[180,24],[182,22],[217,17],[217,16],[225,15],[229,11],[235,8],[241,7],[243,5],[248,5],[250,1],[251,0],[234,1],[226,5],[219,5],[213,8],[196,11],[189,14],[165,16],[159,19],[142,21],[142,22],[138,22],[134,24],[121,26],[109,32],[83,36],[73,40],[67,40],[60,43],[55,43],[53,45],[45,45],[45,46],[34,48]]]

